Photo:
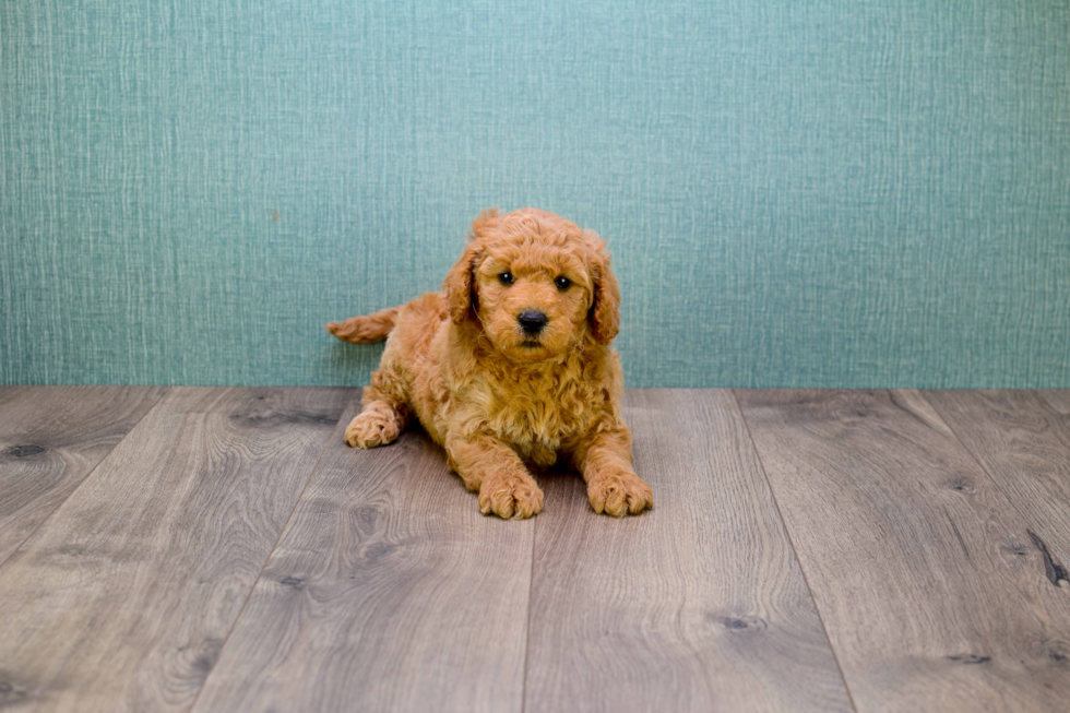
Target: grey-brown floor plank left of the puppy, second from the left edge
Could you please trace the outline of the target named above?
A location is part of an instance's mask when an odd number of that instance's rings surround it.
[[[348,396],[171,390],[0,569],[0,704],[187,710]]]

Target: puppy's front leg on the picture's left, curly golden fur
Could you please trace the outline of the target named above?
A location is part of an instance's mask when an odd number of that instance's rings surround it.
[[[491,436],[448,439],[450,465],[479,494],[483,514],[523,520],[543,509],[543,491],[513,449]]]

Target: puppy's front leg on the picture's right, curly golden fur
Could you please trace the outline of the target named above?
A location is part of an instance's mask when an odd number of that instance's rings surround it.
[[[631,464],[631,433],[604,431],[575,450],[573,461],[587,483],[587,499],[597,513],[615,518],[654,507],[654,492]]]

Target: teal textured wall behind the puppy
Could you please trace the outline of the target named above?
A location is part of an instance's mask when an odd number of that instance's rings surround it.
[[[630,385],[1070,387],[1065,0],[0,5],[0,382],[365,383],[483,207]]]

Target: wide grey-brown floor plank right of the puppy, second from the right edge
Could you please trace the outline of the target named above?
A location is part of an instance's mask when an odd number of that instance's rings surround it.
[[[737,397],[858,711],[1063,711],[1070,598],[917,392]]]

